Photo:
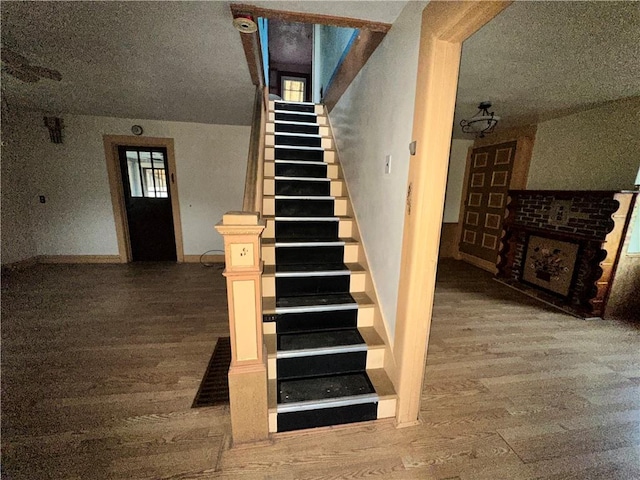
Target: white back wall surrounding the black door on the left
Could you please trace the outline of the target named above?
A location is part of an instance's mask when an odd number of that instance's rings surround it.
[[[184,253],[223,248],[213,225],[226,211],[242,207],[250,127],[63,119],[62,145],[49,142],[40,114],[25,114],[22,120],[31,141],[17,156],[31,178],[26,197],[37,255],[118,254],[102,136],[130,135],[134,124],[142,125],[146,136],[174,139]],[[38,203],[38,195],[46,195],[47,202]]]

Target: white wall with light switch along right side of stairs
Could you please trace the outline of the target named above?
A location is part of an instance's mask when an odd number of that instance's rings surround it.
[[[396,320],[421,12],[409,2],[330,114],[380,307]],[[401,74],[400,74],[401,72]],[[385,175],[385,156],[392,155]]]

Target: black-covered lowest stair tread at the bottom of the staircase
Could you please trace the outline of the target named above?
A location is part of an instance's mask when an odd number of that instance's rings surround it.
[[[278,382],[278,404],[312,402],[314,400],[370,394],[375,394],[375,390],[365,372],[281,380]]]

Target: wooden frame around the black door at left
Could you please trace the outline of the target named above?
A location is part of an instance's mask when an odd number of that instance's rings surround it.
[[[127,223],[127,210],[124,201],[124,188],[122,186],[122,171],[120,169],[118,147],[161,147],[167,150],[169,195],[171,197],[173,230],[176,238],[176,259],[178,263],[184,262],[180,199],[178,197],[178,174],[176,171],[173,138],[135,137],[133,135],[103,135],[102,138],[107,162],[107,174],[109,176],[113,219],[116,225],[116,236],[118,238],[120,263],[129,263],[133,259],[131,256],[131,241],[129,238],[129,225]]]

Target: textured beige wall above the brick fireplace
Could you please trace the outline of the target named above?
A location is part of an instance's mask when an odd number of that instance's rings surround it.
[[[633,188],[640,166],[640,97],[538,124],[528,189]]]

